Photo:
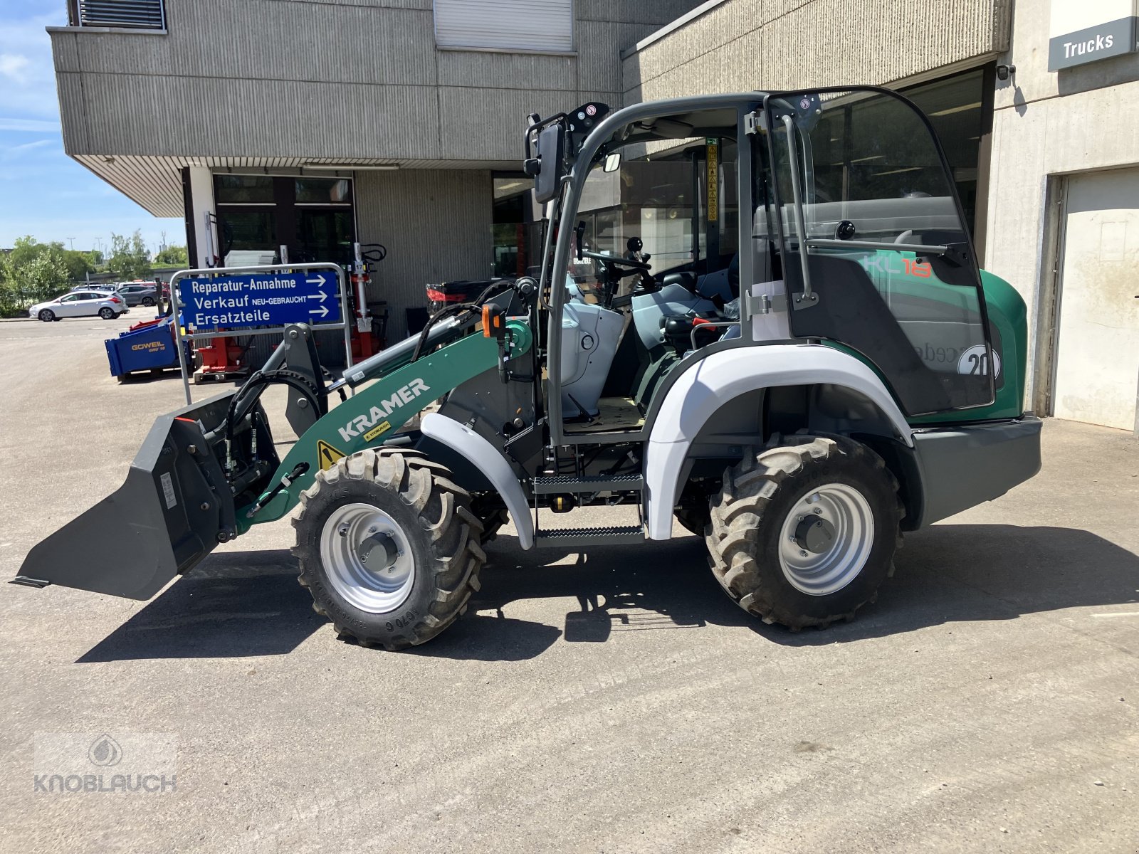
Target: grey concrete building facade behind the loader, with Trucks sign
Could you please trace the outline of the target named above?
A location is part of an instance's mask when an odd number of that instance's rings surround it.
[[[942,138],[982,265],[1029,305],[1029,405],[1136,429],[1137,0],[124,2],[140,5],[151,17],[122,26],[76,0],[51,31],[67,153],[185,214],[203,264],[303,245],[313,222],[328,252],[350,211],[354,239],[388,248],[372,288],[390,337],[425,282],[526,263],[528,113],[901,89]],[[257,205],[288,207],[272,240]]]

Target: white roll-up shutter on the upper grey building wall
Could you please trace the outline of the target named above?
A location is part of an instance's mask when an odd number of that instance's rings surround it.
[[[435,0],[445,48],[573,50],[573,0]]]

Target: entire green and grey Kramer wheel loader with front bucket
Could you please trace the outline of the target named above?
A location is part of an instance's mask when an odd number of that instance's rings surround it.
[[[741,608],[823,627],[876,598],[903,532],[1039,470],[1024,303],[978,270],[904,97],[591,102],[530,116],[524,145],[539,276],[331,379],[288,327],[239,388],[158,418],[124,485],[16,581],[145,600],[289,516],[316,610],[395,650],[464,613],[507,519],[522,549],[563,550],[675,520]],[[284,458],[273,384],[300,436]],[[598,504],[639,523],[548,527]]]

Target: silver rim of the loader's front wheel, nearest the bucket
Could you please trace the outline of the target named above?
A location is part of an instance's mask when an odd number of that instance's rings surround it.
[[[398,555],[390,566],[369,567],[369,542],[390,536]],[[372,553],[375,550],[372,550]],[[403,528],[372,504],[336,508],[320,534],[320,560],[329,583],[344,599],[369,614],[387,614],[407,601],[416,581],[416,561]]]

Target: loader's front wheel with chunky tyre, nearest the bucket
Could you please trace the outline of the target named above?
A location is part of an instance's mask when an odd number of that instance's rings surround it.
[[[367,450],[317,474],[293,519],[313,609],[361,646],[423,643],[466,610],[485,555],[446,467]]]

